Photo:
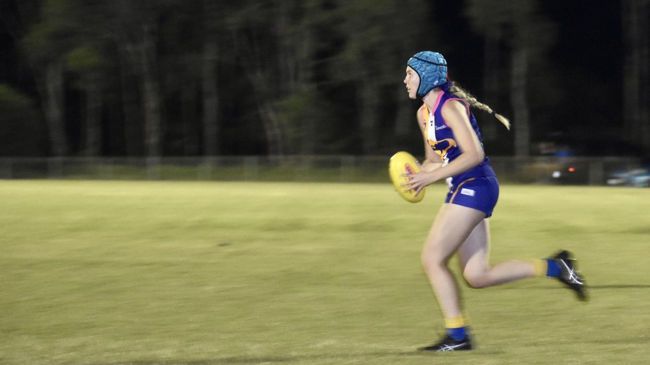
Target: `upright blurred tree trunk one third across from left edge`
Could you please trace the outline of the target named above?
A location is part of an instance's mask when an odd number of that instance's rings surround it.
[[[203,155],[214,156],[219,153],[218,90],[216,62],[217,44],[206,40],[203,45]]]

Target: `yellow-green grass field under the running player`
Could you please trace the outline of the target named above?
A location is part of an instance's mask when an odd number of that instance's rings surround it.
[[[445,195],[389,184],[0,181],[0,364],[648,364],[650,189],[504,185],[492,260],[580,259],[463,296],[443,333],[419,264]],[[456,266],[452,262],[452,266]]]

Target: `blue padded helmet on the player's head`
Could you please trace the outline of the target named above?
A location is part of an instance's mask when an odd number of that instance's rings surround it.
[[[440,53],[422,51],[409,58],[406,64],[420,77],[418,95],[424,96],[432,88],[443,86],[447,82],[447,60]]]

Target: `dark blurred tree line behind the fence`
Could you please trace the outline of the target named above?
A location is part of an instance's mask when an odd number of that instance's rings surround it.
[[[561,83],[549,60],[562,33],[539,0],[468,0],[452,10],[425,0],[0,4],[11,75],[0,79],[0,155],[417,151],[417,103],[401,80],[422,49],[447,55],[452,78],[512,119],[506,134],[481,116],[493,152],[528,155],[560,125],[547,110],[562,100],[547,91]],[[646,152],[649,4],[619,6],[617,110],[624,139]],[[454,28],[445,11],[465,23]]]

